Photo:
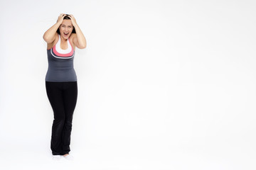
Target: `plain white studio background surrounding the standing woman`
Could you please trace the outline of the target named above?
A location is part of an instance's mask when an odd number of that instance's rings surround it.
[[[255,169],[255,1],[0,1],[0,169]],[[73,162],[51,160],[43,33],[72,13]]]

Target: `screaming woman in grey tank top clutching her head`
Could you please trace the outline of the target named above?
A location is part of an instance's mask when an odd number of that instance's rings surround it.
[[[54,120],[50,149],[53,159],[72,159],[70,135],[78,85],[73,60],[75,47],[86,47],[85,36],[73,15],[61,13],[58,21],[43,35],[47,42],[48,72],[46,92],[53,108]]]

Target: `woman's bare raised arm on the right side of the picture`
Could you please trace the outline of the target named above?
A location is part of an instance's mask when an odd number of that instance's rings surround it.
[[[85,48],[87,45],[85,40],[85,35],[83,35],[82,30],[78,26],[78,23],[76,23],[74,16],[73,15],[70,15],[70,16],[71,16],[70,18],[71,18],[72,24],[75,28],[75,33],[76,33],[74,35],[73,42],[76,47],[80,49]]]

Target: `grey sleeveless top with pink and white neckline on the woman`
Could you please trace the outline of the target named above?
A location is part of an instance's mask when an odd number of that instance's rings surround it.
[[[47,50],[48,71],[46,81],[65,82],[77,81],[73,60],[75,50],[73,50],[68,38],[68,49],[60,48],[60,35],[56,45]]]

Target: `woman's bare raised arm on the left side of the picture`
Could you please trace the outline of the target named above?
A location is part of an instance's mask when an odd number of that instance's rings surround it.
[[[48,44],[53,42],[55,38],[57,37],[56,31],[58,30],[60,24],[63,22],[65,14],[61,13],[58,17],[57,23],[55,23],[52,27],[50,27],[48,30],[46,30],[46,33],[43,34],[43,40],[45,40]]]

